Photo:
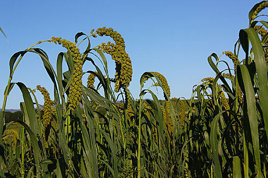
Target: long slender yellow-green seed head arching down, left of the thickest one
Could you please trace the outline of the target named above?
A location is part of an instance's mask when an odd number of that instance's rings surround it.
[[[82,66],[83,62],[81,60],[81,53],[79,52],[79,48],[70,41],[65,39],[61,40],[60,37],[55,38],[52,37],[52,42],[55,44],[62,44],[72,55],[72,60],[74,61],[74,69],[72,70],[71,84],[70,90],[68,94],[68,103],[69,108],[71,110],[75,110],[77,106],[80,105],[81,97],[82,97]]]

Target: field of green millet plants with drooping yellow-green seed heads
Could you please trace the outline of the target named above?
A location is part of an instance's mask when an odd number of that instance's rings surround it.
[[[171,98],[172,88],[157,71],[140,76],[139,98],[133,98],[135,69],[113,28],[78,33],[74,42],[37,40],[14,53],[0,112],[0,177],[268,177],[268,23],[257,21],[266,7],[268,1],[252,8],[249,28],[237,32],[232,52],[208,54],[215,75],[194,85],[187,100]],[[90,46],[103,36],[111,42]],[[62,52],[49,61],[41,43],[60,45]],[[12,81],[26,53],[42,61],[53,95],[46,86]],[[115,62],[114,76],[107,60]],[[145,87],[148,82],[153,85]],[[23,118],[5,123],[14,87],[23,96]]]

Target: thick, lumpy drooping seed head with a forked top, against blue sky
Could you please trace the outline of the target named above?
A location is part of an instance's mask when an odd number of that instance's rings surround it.
[[[91,31],[91,34],[93,31]],[[125,41],[119,33],[113,30],[113,28],[98,28],[95,34],[102,36],[111,37],[114,43],[107,42],[102,43],[99,46],[103,52],[110,54],[112,59],[115,61],[115,92],[119,92],[121,87],[128,87],[132,80],[132,65],[128,53],[125,50]],[[93,37],[96,35],[93,34]]]

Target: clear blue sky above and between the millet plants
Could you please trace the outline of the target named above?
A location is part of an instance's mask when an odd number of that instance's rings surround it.
[[[78,32],[90,34],[92,28],[112,27],[124,37],[132,60],[130,90],[139,94],[143,72],[163,74],[172,97],[190,98],[192,86],[204,77],[214,77],[207,57],[215,52],[233,51],[241,28],[249,25],[248,13],[259,1],[0,1],[0,108],[9,76],[9,60],[39,40],[52,36],[74,41]],[[110,41],[92,38],[91,46]],[[41,44],[55,66],[57,54],[65,51],[54,44]],[[82,50],[81,50],[82,51]],[[224,58],[223,58],[224,59]],[[228,61],[229,59],[225,57]],[[108,58],[110,76],[114,61]],[[230,64],[231,61],[229,60]],[[85,66],[84,71],[93,70]],[[35,88],[53,86],[38,56],[23,57],[13,82]],[[84,77],[86,84],[86,77]],[[43,99],[37,94],[39,102]],[[162,99],[162,91],[159,90]],[[53,97],[52,97],[53,99]],[[22,95],[17,87],[10,93],[7,109],[18,109]]]

